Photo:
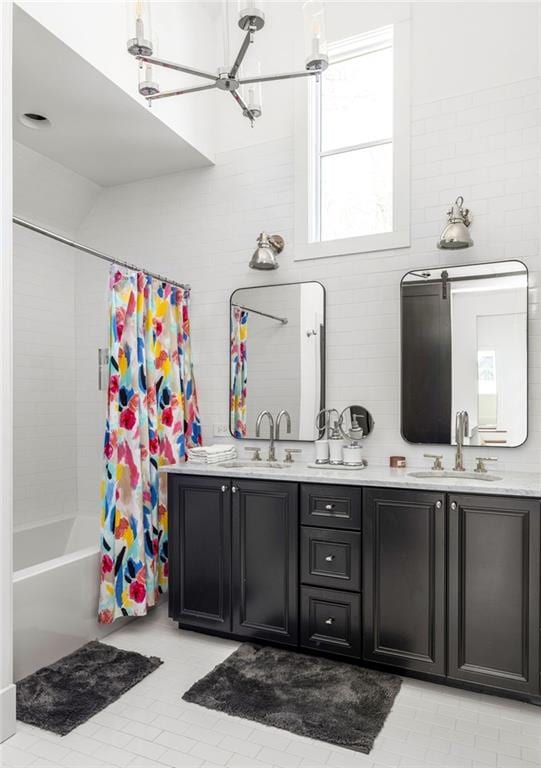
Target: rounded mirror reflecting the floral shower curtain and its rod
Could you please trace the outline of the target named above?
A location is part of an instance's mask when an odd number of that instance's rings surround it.
[[[231,295],[230,430],[254,439],[257,417],[281,419],[285,440],[315,440],[325,406],[325,290],[321,283],[239,288]],[[265,439],[267,427],[265,426]]]

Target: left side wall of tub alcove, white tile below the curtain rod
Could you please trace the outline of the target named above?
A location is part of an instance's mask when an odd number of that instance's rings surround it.
[[[77,509],[75,261],[14,229],[14,525]]]

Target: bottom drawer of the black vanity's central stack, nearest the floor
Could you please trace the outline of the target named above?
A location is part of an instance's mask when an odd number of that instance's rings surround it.
[[[301,646],[360,658],[360,595],[302,587]]]

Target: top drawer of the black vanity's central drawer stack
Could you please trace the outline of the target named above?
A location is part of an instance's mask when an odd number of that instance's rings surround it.
[[[349,486],[301,485],[301,523],[361,530],[362,491]]]

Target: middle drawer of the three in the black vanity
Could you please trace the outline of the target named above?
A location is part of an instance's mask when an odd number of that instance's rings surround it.
[[[361,588],[361,534],[303,526],[301,581],[316,587],[358,592]]]

